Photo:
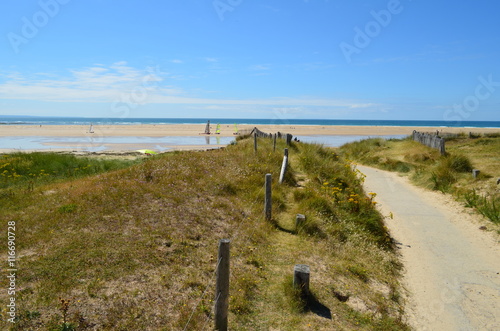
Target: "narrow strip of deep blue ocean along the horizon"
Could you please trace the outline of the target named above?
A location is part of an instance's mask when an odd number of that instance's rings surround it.
[[[97,118],[97,117],[36,117],[0,115],[0,125],[127,125],[127,124],[203,124],[207,120],[220,124],[255,125],[351,125],[351,126],[423,126],[500,128],[500,121],[415,121],[415,120],[332,120],[332,119],[242,119],[242,118]]]

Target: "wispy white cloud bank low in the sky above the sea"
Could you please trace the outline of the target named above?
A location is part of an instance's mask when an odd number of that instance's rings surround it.
[[[268,65],[254,66],[255,70],[266,71]],[[189,104],[221,108],[273,107],[298,111],[304,107],[328,107],[344,109],[373,109],[376,104],[356,100],[328,99],[317,97],[277,97],[265,99],[211,99],[187,96],[178,87],[165,83],[158,68],[137,69],[126,62],[109,66],[93,65],[73,69],[66,77],[51,74],[35,74],[27,77],[20,73],[0,73],[0,98],[11,100],[34,100],[46,102],[116,102],[128,96],[140,95],[141,104]],[[3,80],[3,82],[2,82]],[[139,103],[139,102],[137,102]],[[236,107],[238,106],[238,107]]]

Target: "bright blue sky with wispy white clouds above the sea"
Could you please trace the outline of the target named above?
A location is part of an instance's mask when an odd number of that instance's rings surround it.
[[[0,115],[500,120],[500,2],[4,0]]]

